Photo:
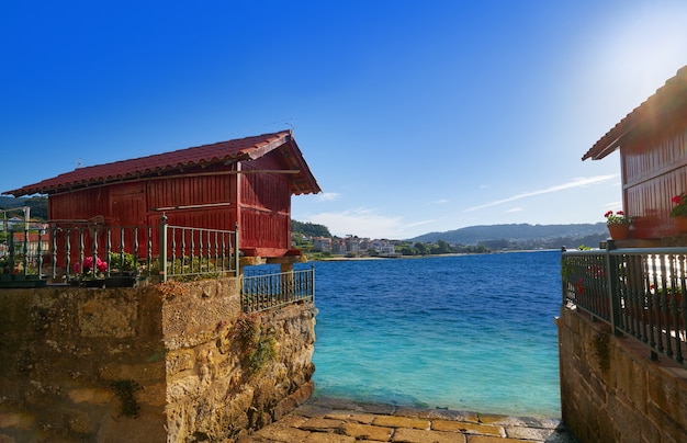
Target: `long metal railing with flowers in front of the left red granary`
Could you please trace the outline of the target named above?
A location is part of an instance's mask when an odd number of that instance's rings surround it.
[[[155,227],[57,220],[37,229],[10,231],[5,237],[7,242],[0,245],[0,282],[10,285],[116,275],[155,275],[165,282],[239,273],[238,230],[170,226],[165,216]],[[155,248],[159,250],[154,251],[156,237],[159,241]]]

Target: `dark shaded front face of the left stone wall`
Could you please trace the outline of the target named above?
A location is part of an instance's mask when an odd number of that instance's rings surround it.
[[[165,441],[160,309],[151,288],[1,289],[0,441]]]

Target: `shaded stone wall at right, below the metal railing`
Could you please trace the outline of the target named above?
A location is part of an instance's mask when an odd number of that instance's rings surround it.
[[[558,319],[563,421],[581,442],[687,441],[687,371],[567,307]]]

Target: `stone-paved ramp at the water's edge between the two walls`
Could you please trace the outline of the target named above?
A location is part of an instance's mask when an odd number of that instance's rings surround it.
[[[574,443],[561,420],[312,398],[239,443]]]

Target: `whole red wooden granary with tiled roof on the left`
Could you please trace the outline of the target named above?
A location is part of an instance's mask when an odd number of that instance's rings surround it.
[[[77,168],[4,194],[47,194],[53,223],[157,229],[165,214],[176,226],[238,228],[245,255],[277,258],[297,253],[290,249],[291,195],[318,192],[284,130]],[[158,236],[151,238],[156,254]]]

